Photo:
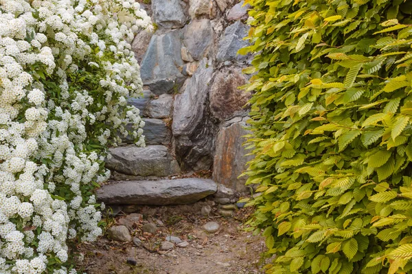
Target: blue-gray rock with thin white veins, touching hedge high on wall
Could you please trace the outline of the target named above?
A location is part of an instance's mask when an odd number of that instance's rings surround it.
[[[247,36],[248,30],[249,27],[240,21],[229,25],[229,27],[225,29],[222,38],[220,38],[216,60],[218,60],[218,62],[246,60],[246,55],[237,55],[237,53],[239,49],[248,45],[247,40],[243,40],[243,38]]]

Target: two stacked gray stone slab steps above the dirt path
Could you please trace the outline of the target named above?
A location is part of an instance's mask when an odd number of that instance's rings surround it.
[[[116,147],[106,166],[121,180],[113,180],[97,192],[108,205],[167,206],[194,203],[218,190],[211,179],[179,178],[179,164],[163,145]],[[127,178],[127,179],[124,179]],[[116,176],[114,177],[116,179]]]

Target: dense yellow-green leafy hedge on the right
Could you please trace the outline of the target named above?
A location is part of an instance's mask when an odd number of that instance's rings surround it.
[[[245,2],[268,273],[410,273],[412,1]]]

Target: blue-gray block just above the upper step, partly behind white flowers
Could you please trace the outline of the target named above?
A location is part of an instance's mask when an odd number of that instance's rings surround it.
[[[170,145],[172,132],[170,132],[170,128],[166,125],[165,121],[152,118],[144,119],[144,121],[146,125],[144,126],[143,135],[145,136],[146,145]],[[128,124],[126,128],[128,130],[133,129],[131,124]],[[132,136],[127,136],[122,138],[122,140],[126,144],[134,143]]]

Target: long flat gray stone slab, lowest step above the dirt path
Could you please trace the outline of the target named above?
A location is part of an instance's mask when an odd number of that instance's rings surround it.
[[[184,178],[157,181],[120,181],[102,186],[97,197],[108,205],[167,206],[195,203],[216,192],[211,179]]]

